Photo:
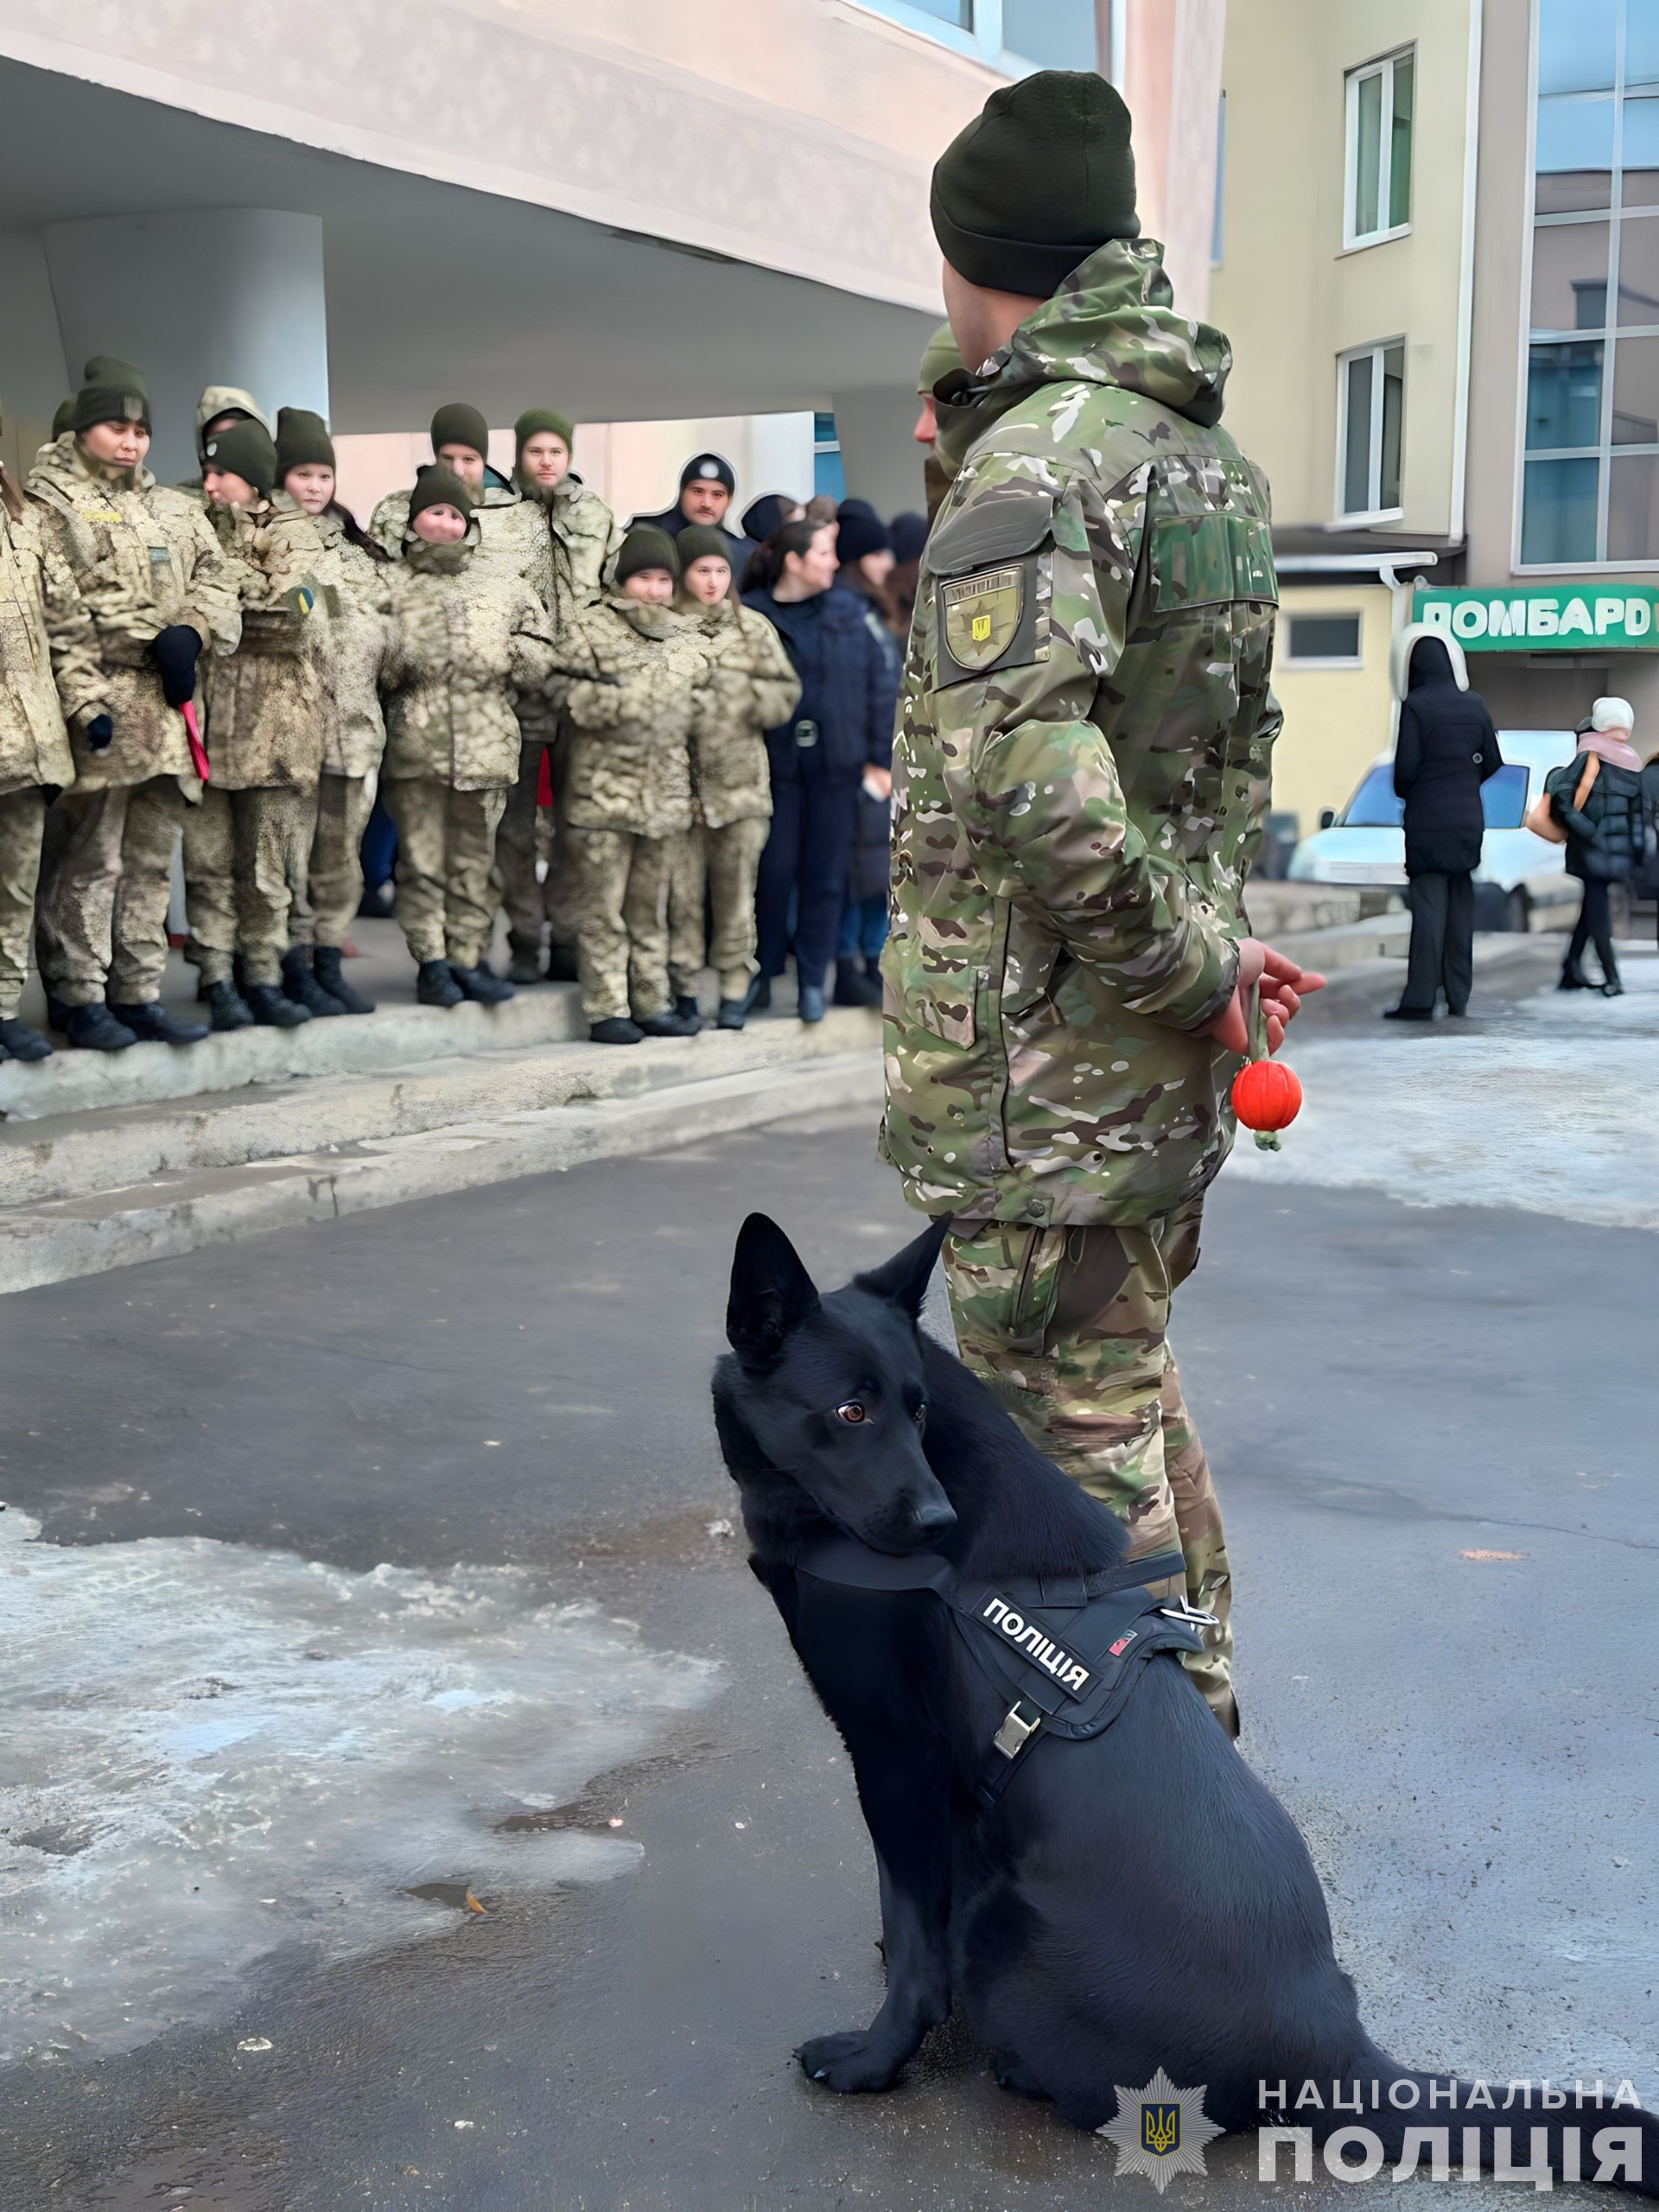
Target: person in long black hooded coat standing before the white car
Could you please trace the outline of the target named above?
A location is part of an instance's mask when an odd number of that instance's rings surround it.
[[[1458,655],[1462,661],[1462,655]],[[1458,681],[1442,637],[1407,644],[1407,688],[1394,743],[1394,790],[1405,799],[1405,874],[1411,956],[1389,1022],[1431,1022],[1433,1002],[1469,1009],[1475,980],[1475,878],[1486,816],[1480,785],[1504,765],[1480,692]]]

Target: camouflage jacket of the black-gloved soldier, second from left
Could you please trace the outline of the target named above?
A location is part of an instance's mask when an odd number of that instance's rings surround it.
[[[73,431],[40,449],[29,491],[40,500],[46,551],[69,566],[97,646],[95,664],[91,655],[82,657],[69,635],[82,615],[55,615],[46,606],[75,748],[75,783],[106,790],[177,776],[184,794],[197,799],[201,785],[190,765],[184,717],[161,697],[150,639],[173,624],[188,624],[212,657],[234,653],[241,639],[237,564],[226,557],[199,507],[157,484],[148,469],[122,471],[115,480],[93,473]],[[197,695],[206,672],[204,650]],[[86,743],[86,723],[97,714],[115,723],[115,739],[104,752]]]

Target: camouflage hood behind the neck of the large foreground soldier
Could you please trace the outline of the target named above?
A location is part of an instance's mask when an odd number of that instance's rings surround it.
[[[1040,385],[1144,392],[1210,429],[1221,420],[1232,347],[1219,330],[1177,314],[1172,301],[1157,239],[1108,239],[991,356],[991,374],[953,380],[938,409],[947,467],[956,471],[991,422]]]

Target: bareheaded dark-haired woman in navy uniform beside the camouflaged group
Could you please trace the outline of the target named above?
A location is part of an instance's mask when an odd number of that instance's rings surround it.
[[[898,684],[865,622],[865,604],[832,591],[836,533],[785,522],[750,562],[743,606],[765,615],[801,677],[801,703],[765,732],[772,834],[754,891],[761,973],[750,1006],[772,1004],[783,973],[794,896],[794,975],[803,1022],[823,1020],[823,980],[836,951],[865,776],[891,790]]]

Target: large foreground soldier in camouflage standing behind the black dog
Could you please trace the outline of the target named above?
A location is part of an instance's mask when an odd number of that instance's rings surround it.
[[[1137,237],[1095,75],[991,95],[933,177],[962,358],[894,745],[885,1157],[949,1212],[962,1356],[1212,1610],[1230,1573],[1168,1349],[1232,1141],[1239,989],[1298,971],[1239,905],[1267,799],[1267,487],[1217,427],[1228,345]],[[989,356],[989,358],[987,358]]]

